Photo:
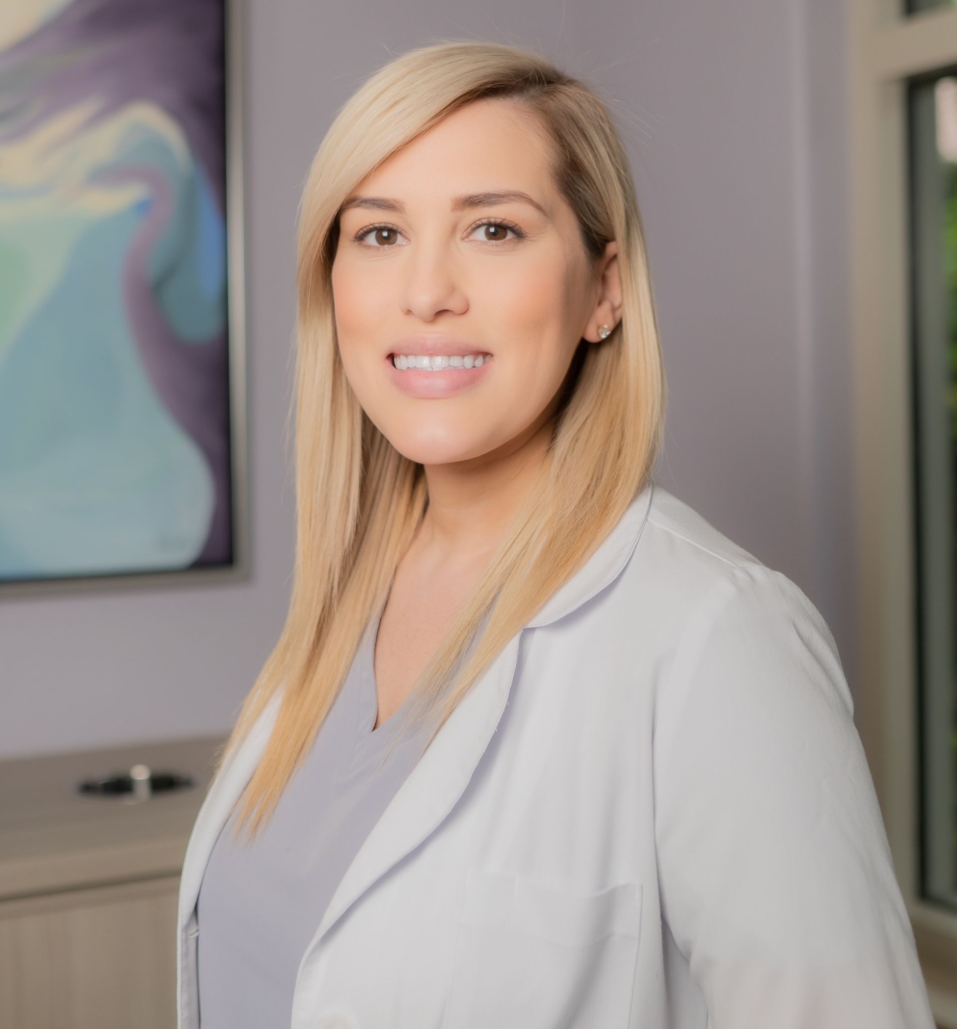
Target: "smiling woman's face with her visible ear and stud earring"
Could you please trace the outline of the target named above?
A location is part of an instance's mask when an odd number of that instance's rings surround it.
[[[616,287],[614,244],[590,267],[548,147],[517,104],[476,101],[343,205],[332,263],[343,365],[365,413],[413,461],[513,449],[551,417],[581,338],[614,325],[602,285]],[[396,355],[418,361],[399,360],[402,369]],[[444,367],[432,367],[436,356]]]

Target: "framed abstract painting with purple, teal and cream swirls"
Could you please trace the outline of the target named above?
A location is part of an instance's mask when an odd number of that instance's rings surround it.
[[[247,574],[235,13],[0,11],[0,598]]]

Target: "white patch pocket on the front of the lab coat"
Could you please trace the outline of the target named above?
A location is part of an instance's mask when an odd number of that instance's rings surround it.
[[[641,929],[641,884],[572,893],[469,871],[448,1029],[623,1029]]]

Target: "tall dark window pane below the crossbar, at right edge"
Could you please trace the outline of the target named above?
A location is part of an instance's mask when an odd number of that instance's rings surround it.
[[[921,888],[957,910],[957,72],[908,99]]]

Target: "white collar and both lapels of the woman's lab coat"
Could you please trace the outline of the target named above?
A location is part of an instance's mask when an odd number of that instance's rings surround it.
[[[652,491],[653,484],[649,483],[638,493],[591,558],[511,638],[453,710],[347,870],[304,956],[304,964],[351,904],[433,832],[455,807],[504,711],[522,632],[564,617],[614,580],[638,543]],[[184,860],[180,887],[181,924],[196,906],[213,845],[265,748],[278,708],[277,695],[271,699],[234,759],[214,781],[203,804]]]

